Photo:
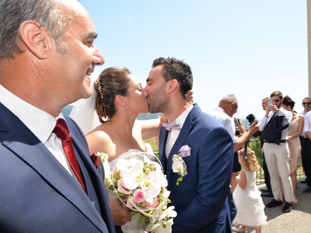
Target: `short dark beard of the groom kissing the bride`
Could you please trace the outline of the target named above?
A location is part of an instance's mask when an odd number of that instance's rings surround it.
[[[150,102],[148,110],[150,113],[165,113],[168,114],[169,101],[165,92],[165,83],[154,91],[153,95],[150,95]]]

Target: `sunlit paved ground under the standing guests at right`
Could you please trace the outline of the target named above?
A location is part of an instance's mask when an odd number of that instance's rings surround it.
[[[304,178],[298,181],[301,179]],[[304,187],[306,184],[297,183],[296,197],[299,204],[294,205],[290,213],[283,214],[283,206],[264,209],[268,225],[262,227],[262,233],[311,233],[311,193],[301,193]],[[267,204],[272,198],[262,200]],[[255,229],[248,229],[248,233],[251,232],[255,233]]]

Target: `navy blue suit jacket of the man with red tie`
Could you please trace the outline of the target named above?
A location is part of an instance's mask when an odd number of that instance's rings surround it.
[[[0,103],[0,232],[114,232],[101,172],[90,160],[81,130],[69,117],[66,121],[78,160],[92,177],[93,184],[86,183],[86,188],[96,186],[102,211],[39,139]]]

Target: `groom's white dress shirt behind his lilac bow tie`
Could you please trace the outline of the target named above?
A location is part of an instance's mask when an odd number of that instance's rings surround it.
[[[186,120],[187,116],[189,115],[192,108],[193,108],[193,105],[191,104],[185,112],[183,112],[181,115],[179,115],[175,119],[175,122],[176,122],[176,124],[179,124],[180,129],[183,128],[185,120]],[[167,136],[167,140],[166,140],[166,146],[165,146],[166,158],[169,157],[169,154],[173,148],[173,145],[174,145],[179,133],[180,133],[180,130],[177,130],[177,129],[172,129],[172,131],[169,132],[169,134]]]

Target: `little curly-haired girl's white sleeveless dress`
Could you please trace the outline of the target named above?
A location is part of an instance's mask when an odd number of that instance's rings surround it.
[[[256,185],[256,172],[244,169],[243,171],[246,174],[247,184],[245,189],[238,184],[233,192],[233,200],[238,210],[233,224],[247,227],[267,225],[267,216],[263,210],[264,204]]]

